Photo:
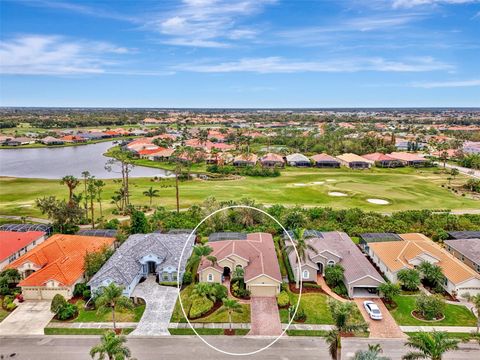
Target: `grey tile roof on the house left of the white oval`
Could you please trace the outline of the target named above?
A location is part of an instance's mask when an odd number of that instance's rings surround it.
[[[185,248],[180,268],[180,272],[183,272],[194,242],[193,236],[190,239],[188,237],[189,234],[131,235],[92,277],[88,285],[100,286],[106,279],[118,285],[130,285],[141,270],[140,259],[149,254],[162,259],[160,265],[162,268],[167,266],[177,268],[183,247],[188,240],[189,245]]]

